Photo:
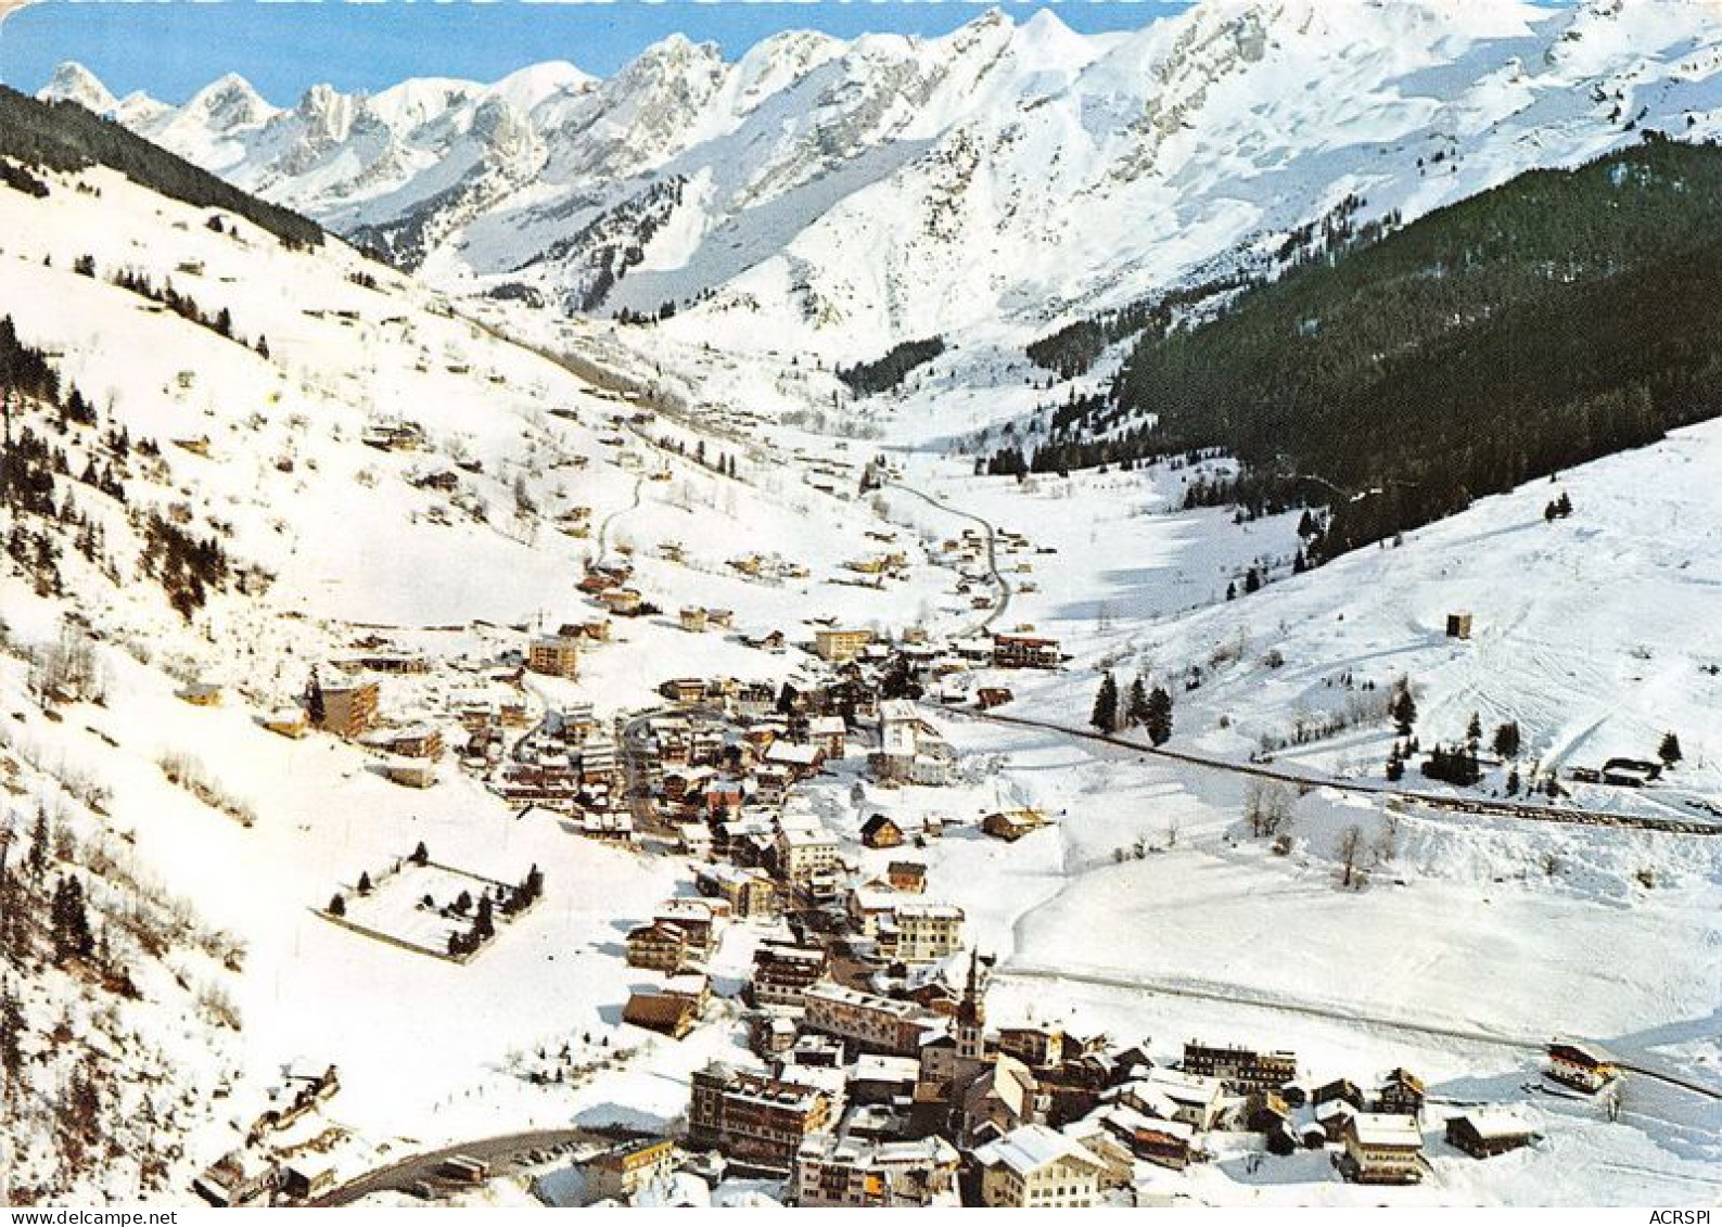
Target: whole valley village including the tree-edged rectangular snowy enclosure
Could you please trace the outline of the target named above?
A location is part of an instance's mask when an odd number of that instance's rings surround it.
[[[938,549],[973,564],[994,549],[990,532],[968,528]],[[1013,552],[1030,549],[1018,533],[1000,539]],[[1443,1168],[1538,1146],[1543,1105],[1619,1117],[1629,1074],[1583,1039],[1550,1039],[1541,1060],[1524,1058],[1522,1086],[1479,1096],[1431,1093],[1405,1067],[1329,1076],[1328,1064],[1266,1046],[1273,1034],[1259,1036],[1261,1046],[1155,1043],[1035,1022],[1021,1010],[990,1014],[997,952],[944,891],[951,869],[938,848],[947,840],[1049,848],[1069,814],[1002,793],[995,805],[973,805],[964,785],[985,780],[945,724],[1011,711],[1019,678],[1064,668],[1059,640],[1030,625],[988,632],[985,621],[945,638],[835,620],[753,633],[737,630],[730,611],[699,606],[672,618],[647,613],[656,602],[630,587],[630,552],[587,566],[582,621],[541,633],[491,628],[494,656],[458,664],[370,635],[313,669],[300,700],[265,721],[288,738],[353,742],[400,786],[434,788],[458,773],[518,821],[675,866],[673,891],[620,934],[634,974],[613,1005],[616,1046],[599,1064],[582,1062],[570,1043],[542,1046],[523,1062],[532,1082],[579,1082],[665,1039],[734,1039],[734,1050],[689,1069],[672,1129],[608,1124],[492,1158],[444,1153],[387,1187],[460,1201],[518,1172],[558,1206],[1178,1205],[1192,1194],[1176,1175],[1205,1163],[1419,1186]],[[1002,607],[997,583],[975,609]],[[579,697],[582,661],[610,650],[618,625],[646,616],[692,645],[727,635],[789,654],[794,668],[775,683],[670,676],[656,687],[658,706],[599,712]],[[1446,632],[1469,637],[1469,618]],[[1140,716],[1147,704],[1137,690]],[[181,697],[219,702],[207,687]],[[849,804],[833,807],[833,795]],[[1140,845],[1128,855],[1142,855]],[[336,886],[320,914],[358,936],[463,964],[506,941],[508,921],[539,895],[563,888],[537,864],[523,874],[491,881],[439,864],[418,843]],[[1049,1002],[1037,1005],[1044,1015]],[[198,1191],[217,1205],[344,1203],[367,1191],[363,1179],[344,1182],[353,1174],[343,1172],[339,1146],[332,1158],[284,1144],[301,1139],[298,1119],[336,1089],[331,1069],[286,1113],[265,1113]]]

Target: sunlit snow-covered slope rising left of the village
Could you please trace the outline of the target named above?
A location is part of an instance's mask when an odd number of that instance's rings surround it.
[[[620,396],[339,243],[289,250],[102,167],[33,174],[46,196],[0,188],[0,318],[88,408],[9,398],[9,439],[21,454],[36,454],[24,432],[50,449],[31,472],[52,473],[53,494],[52,509],[31,509],[10,489],[0,508],[0,829],[17,857],[34,855],[33,814],[46,807],[65,835],[43,845],[41,890],[84,885],[102,953],[81,964],[5,943],[3,1036],[24,1033],[36,1093],[28,1110],[0,1108],[9,1193],[191,1199],[191,1177],[243,1141],[288,1065],[339,1065],[343,1165],[479,1136],[498,1119],[565,1124],[567,1101],[492,1077],[551,1034],[603,1038],[615,1057],[579,1110],[677,1115],[675,1076],[704,1048],[663,1053],[651,1072],[616,1055],[641,1036],[615,1022],[630,972],[613,928],[675,890],[675,860],[575,840],[549,816],[522,823],[448,764],[430,792],[400,788],[375,752],[282,738],[262,718],[319,663],[387,635],[437,661],[434,676],[386,687],[391,723],[425,718],[453,737],[456,695],[498,692],[534,712],[587,697],[608,719],[661,702],[654,688],[677,671],[784,680],[796,657],[739,633],[797,633],[813,606],[901,625],[942,571],[918,563],[904,585],[828,583],[864,530],[892,525],[756,466],[746,441],[708,441],[713,463],[701,465],[649,444],[651,430],[618,432]],[[157,301],[169,286],[179,310]],[[365,442],[396,422],[417,425],[415,447]],[[715,472],[720,456],[735,477]],[[17,480],[10,463],[5,478]],[[567,532],[575,523],[589,532]],[[172,542],[207,542],[195,551],[226,564],[193,585],[164,561]],[[532,630],[594,616],[575,590],[582,563],[623,549],[637,587],[672,613],[687,601],[732,609],[737,635],[625,620],[585,654],[579,687],[522,685],[510,654],[518,661]],[[749,580],[725,566],[746,551],[811,570]],[[57,645],[96,681],[50,694],[43,661]],[[222,702],[186,702],[193,683],[219,687]],[[201,792],[169,778],[176,761],[196,762]],[[539,864],[553,902],[465,969],[315,914],[418,840],[496,878]],[[139,953],[145,926],[177,936]],[[133,984],[102,981],[110,959]],[[67,1045],[91,1057],[74,1062]]]

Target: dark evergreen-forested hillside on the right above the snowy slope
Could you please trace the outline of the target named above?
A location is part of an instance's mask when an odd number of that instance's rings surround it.
[[[1221,496],[1329,508],[1324,561],[1713,416],[1719,274],[1722,150],[1648,134],[1149,332],[1023,465],[1223,449]]]

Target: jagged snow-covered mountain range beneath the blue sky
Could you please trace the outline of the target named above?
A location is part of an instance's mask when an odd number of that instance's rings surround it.
[[[1710,134],[1722,24],[1703,0],[1204,0],[1131,34],[994,10],[735,62],[672,36],[606,81],[546,64],[293,110],[236,77],[114,103],[76,65],[43,93],[446,287],[709,299],[735,341],[844,353],[1126,301],[1348,193],[1415,215],[1645,129]]]

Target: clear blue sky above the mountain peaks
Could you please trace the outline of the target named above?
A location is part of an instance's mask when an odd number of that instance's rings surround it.
[[[734,59],[782,29],[944,34],[988,7],[1073,29],[1138,29],[1181,0],[43,0],[0,24],[0,81],[34,93],[79,60],[115,95],[184,102],[224,72],[289,105],[307,86],[412,76],[492,81],[541,60],[606,76],[680,31]]]

